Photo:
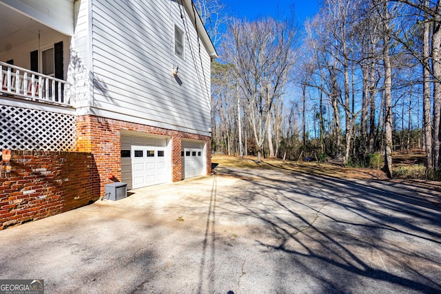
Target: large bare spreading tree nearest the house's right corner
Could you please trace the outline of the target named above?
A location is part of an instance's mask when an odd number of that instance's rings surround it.
[[[229,25],[231,37],[224,44],[225,52],[234,64],[244,94],[247,108],[244,111],[253,129],[258,162],[274,102],[280,97],[293,64],[296,33],[292,20],[236,19]]]

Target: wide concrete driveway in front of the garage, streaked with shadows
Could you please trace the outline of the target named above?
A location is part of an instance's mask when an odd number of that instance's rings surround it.
[[[433,191],[216,169],[0,231],[0,278],[45,293],[441,293]]]

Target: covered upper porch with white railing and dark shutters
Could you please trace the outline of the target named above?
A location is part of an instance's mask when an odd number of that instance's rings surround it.
[[[72,0],[0,0],[0,98],[73,106],[66,81],[73,32]]]

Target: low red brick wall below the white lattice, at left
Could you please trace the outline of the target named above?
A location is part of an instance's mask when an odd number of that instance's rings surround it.
[[[2,151],[0,229],[69,211],[99,199],[92,154]]]

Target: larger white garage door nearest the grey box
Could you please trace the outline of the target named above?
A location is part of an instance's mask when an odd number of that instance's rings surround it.
[[[121,136],[121,178],[127,189],[167,182],[169,161],[165,138]]]

